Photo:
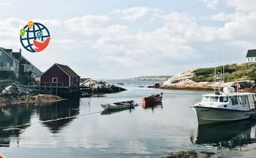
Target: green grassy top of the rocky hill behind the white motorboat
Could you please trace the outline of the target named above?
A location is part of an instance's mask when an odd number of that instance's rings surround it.
[[[192,78],[195,82],[214,82],[213,68],[198,68],[194,71]],[[217,73],[222,73],[223,66],[217,67]],[[225,82],[234,82],[238,80],[252,79],[256,80],[256,63],[242,63],[225,66]]]

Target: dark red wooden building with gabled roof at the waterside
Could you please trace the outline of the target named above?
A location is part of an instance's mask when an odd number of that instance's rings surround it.
[[[69,66],[53,64],[40,76],[40,86],[45,87],[79,87],[80,76]]]

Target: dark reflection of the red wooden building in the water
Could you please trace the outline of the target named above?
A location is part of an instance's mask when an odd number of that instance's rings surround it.
[[[79,100],[65,100],[59,103],[37,107],[37,114],[42,125],[50,132],[58,133],[63,127],[69,125],[79,114]]]

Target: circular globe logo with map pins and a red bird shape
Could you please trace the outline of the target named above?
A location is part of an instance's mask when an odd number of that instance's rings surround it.
[[[29,21],[20,29],[20,43],[29,52],[41,52],[48,47],[50,32],[42,23]]]

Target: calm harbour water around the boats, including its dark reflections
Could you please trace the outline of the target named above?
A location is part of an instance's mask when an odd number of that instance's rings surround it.
[[[0,152],[6,157],[162,157],[180,149],[253,149],[255,122],[197,127],[189,105],[204,92],[140,88],[150,82],[123,82],[126,92],[45,106],[0,108]],[[100,103],[164,93],[162,106],[102,114]]]

